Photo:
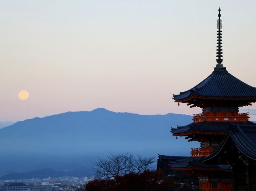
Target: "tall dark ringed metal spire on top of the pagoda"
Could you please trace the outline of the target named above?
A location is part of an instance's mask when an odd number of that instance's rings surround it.
[[[218,11],[219,11],[219,15],[218,15],[219,19],[217,20],[217,29],[218,29],[217,35],[218,36],[217,36],[217,49],[216,49],[218,51],[217,56],[216,56],[217,57],[216,61],[217,61],[218,64],[216,65],[216,67],[223,67],[223,64],[221,64],[222,61],[223,61],[223,59],[221,58],[222,57],[222,55],[221,55],[222,54],[222,52],[221,52],[222,51],[222,49],[221,49],[222,48],[222,42],[221,42],[222,41],[221,40],[221,38],[222,38],[222,36],[221,36],[222,35],[221,34],[221,32],[222,32],[221,31],[221,28],[222,28],[221,9],[219,8]]]

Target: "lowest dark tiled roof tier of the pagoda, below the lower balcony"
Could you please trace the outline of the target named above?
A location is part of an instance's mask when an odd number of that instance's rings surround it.
[[[161,158],[162,155],[158,157]],[[175,156],[164,156],[165,160],[169,158],[169,167],[178,171],[206,170],[206,171],[231,171],[228,165],[207,165],[201,162],[201,158],[184,157],[179,160],[173,160]]]

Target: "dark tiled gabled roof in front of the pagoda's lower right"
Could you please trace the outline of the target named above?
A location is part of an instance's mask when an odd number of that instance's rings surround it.
[[[236,148],[243,153],[243,155],[256,160],[256,128],[250,125],[234,125],[230,124],[228,135],[223,142],[202,161],[207,161],[214,158],[224,148],[228,140],[231,140]],[[227,147],[230,147],[228,145]]]

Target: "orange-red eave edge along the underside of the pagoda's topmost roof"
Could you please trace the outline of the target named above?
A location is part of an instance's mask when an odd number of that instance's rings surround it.
[[[198,95],[190,95],[187,98],[176,100],[174,97],[174,102],[180,103],[189,103],[193,99],[204,99],[204,100],[248,100],[248,102],[256,102],[256,97],[207,97],[207,96],[198,96]]]

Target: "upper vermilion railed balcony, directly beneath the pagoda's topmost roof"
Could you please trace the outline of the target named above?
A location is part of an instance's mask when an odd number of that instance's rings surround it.
[[[210,122],[246,122],[249,120],[249,113],[238,112],[206,112],[193,115],[194,122],[210,121]]]

